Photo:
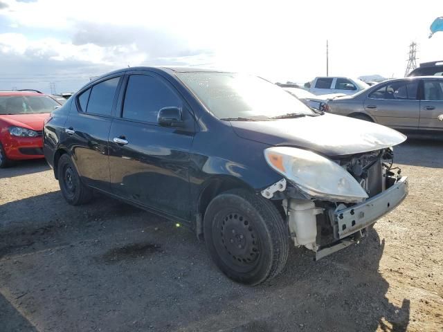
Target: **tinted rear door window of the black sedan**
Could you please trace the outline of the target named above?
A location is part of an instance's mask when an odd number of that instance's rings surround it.
[[[112,104],[114,103],[119,81],[120,77],[114,77],[94,85],[91,88],[86,112],[102,116],[111,116]],[[84,99],[86,99],[86,97]]]

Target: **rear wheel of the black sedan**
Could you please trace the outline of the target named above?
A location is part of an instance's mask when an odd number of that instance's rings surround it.
[[[77,169],[67,154],[60,157],[57,174],[60,190],[66,202],[71,205],[81,205],[91,201],[92,189],[80,181]]]

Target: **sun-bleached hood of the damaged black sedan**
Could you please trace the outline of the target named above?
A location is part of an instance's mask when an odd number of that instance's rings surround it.
[[[242,138],[273,146],[300,147],[326,156],[359,154],[392,147],[406,140],[406,136],[394,129],[333,114],[230,123]]]

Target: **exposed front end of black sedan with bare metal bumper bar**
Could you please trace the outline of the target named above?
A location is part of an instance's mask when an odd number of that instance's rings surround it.
[[[262,191],[268,199],[282,200],[294,244],[316,252],[316,259],[359,242],[379,217],[407,195],[407,182],[401,181],[400,170],[395,167],[397,172],[393,172],[392,148],[346,156],[335,163],[365,190],[365,201],[350,203],[306,196],[284,179]]]

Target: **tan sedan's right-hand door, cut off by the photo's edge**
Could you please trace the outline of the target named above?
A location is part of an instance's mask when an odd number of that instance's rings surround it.
[[[443,130],[443,121],[438,116],[443,114],[443,80],[424,79],[423,95],[420,100],[419,129]]]

